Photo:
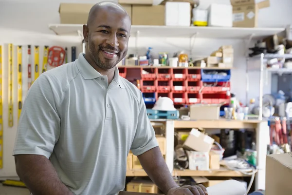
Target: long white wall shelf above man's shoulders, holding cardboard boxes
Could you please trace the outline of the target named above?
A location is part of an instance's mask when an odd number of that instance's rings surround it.
[[[82,34],[83,24],[49,24],[56,35],[78,36]],[[167,37],[167,38],[197,38],[210,39],[262,39],[284,32],[285,28],[238,28],[238,27],[197,27],[197,26],[131,26],[131,37]]]

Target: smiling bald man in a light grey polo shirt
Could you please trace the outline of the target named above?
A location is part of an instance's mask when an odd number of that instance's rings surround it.
[[[202,186],[176,185],[141,92],[119,77],[130,27],[120,5],[94,5],[83,27],[86,53],[43,73],[30,88],[14,156],[33,195],[116,195],[125,186],[129,150],[165,195],[206,194]]]

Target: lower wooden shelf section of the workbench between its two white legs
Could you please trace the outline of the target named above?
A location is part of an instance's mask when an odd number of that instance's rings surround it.
[[[173,176],[228,176],[228,177],[240,177],[240,176],[249,176],[244,175],[239,171],[232,171],[224,168],[219,170],[210,170],[210,171],[193,171],[193,170],[173,170]]]

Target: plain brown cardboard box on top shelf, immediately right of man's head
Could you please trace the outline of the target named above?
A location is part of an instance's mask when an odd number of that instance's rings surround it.
[[[132,25],[164,25],[164,5],[133,5]]]

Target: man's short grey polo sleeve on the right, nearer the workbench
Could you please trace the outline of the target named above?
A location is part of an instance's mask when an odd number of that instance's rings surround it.
[[[138,126],[132,142],[131,151],[135,156],[139,156],[157,146],[158,142],[155,137],[155,131],[147,116],[146,106],[141,94]]]

